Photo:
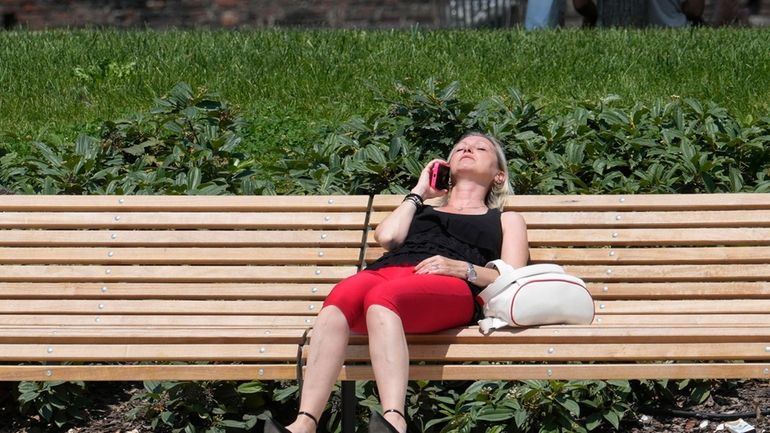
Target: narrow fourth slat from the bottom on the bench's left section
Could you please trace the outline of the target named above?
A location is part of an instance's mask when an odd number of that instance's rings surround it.
[[[189,313],[189,312],[188,312]],[[153,326],[163,327],[294,327],[312,326],[315,316],[307,315],[111,315],[111,314],[0,314],[0,326]]]

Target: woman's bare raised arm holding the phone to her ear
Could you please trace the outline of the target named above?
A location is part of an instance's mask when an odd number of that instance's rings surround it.
[[[417,185],[412,188],[413,194],[426,200],[446,194],[446,191],[437,191],[430,186],[430,169],[436,161],[441,160],[436,159],[429,162],[420,173]],[[374,231],[374,239],[387,251],[399,247],[406,240],[406,235],[409,233],[409,227],[412,225],[412,219],[416,213],[417,207],[414,203],[409,200],[402,202],[377,226]]]

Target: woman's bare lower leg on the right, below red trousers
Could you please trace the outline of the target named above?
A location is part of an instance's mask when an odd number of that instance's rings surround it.
[[[383,306],[372,305],[366,312],[366,326],[382,408],[403,412],[409,380],[409,348],[401,318]],[[398,431],[406,431],[406,420],[401,415],[390,412],[385,414],[385,419]]]

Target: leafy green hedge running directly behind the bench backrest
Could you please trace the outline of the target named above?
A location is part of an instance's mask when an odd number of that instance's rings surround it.
[[[243,146],[247,120],[181,83],[156,108],[107,121],[74,143],[34,142],[0,158],[0,186],[67,194],[400,193],[422,164],[469,130],[503,143],[519,194],[770,190],[770,117],[743,124],[725,108],[616,96],[548,115],[516,90],[480,101],[458,83],[396,84],[385,110],[354,117],[275,163]]]

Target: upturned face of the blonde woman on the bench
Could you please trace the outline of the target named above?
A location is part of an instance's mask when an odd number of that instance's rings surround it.
[[[475,135],[465,137],[455,145],[449,156],[449,166],[453,176],[483,176],[484,179],[488,178],[490,184],[502,173],[498,168],[495,145]]]

